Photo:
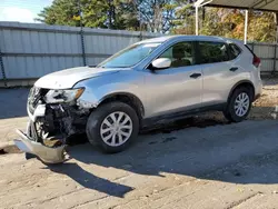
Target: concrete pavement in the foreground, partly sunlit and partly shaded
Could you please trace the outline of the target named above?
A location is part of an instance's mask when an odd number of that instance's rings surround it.
[[[278,208],[278,121],[149,132],[63,165],[0,156],[0,208]]]

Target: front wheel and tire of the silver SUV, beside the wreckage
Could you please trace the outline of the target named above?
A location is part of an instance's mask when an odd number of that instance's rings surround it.
[[[93,110],[86,127],[89,142],[107,153],[125,150],[137,138],[138,131],[139,119],[135,109],[118,101]]]

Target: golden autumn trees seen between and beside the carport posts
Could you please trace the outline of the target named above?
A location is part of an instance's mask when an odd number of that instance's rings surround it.
[[[248,18],[249,41],[275,41],[275,17],[271,12],[250,11]],[[222,36],[234,39],[244,39],[245,11],[237,9],[208,9],[203,34]]]

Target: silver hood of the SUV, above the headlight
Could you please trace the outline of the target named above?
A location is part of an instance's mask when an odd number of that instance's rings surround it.
[[[99,77],[108,73],[118,72],[119,68],[90,68],[90,67],[78,67],[61,70],[41,77],[36,83],[36,87],[44,89],[69,89],[72,88],[77,82]]]

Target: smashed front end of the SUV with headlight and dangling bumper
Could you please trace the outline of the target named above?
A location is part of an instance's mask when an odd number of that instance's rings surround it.
[[[83,133],[90,110],[78,106],[83,88],[50,90],[33,87],[28,96],[30,121],[26,132],[17,130],[21,140],[16,146],[46,163],[64,161],[69,137]]]

